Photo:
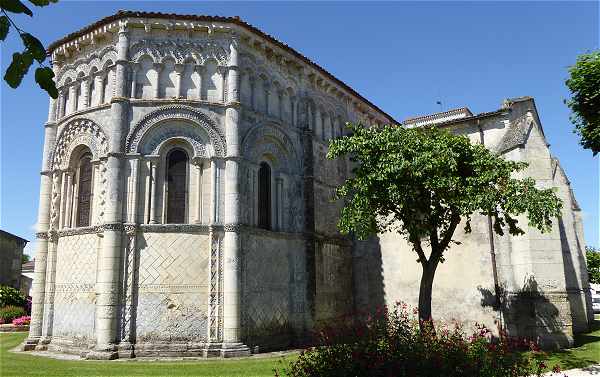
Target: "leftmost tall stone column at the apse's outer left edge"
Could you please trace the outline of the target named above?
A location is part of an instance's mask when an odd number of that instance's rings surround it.
[[[55,71],[58,65],[54,66]],[[48,121],[44,127],[44,151],[42,154],[42,174],[40,177],[40,201],[38,207],[38,218],[36,225],[36,254],[34,278],[32,283],[32,303],[31,303],[31,325],[29,326],[29,336],[23,345],[25,351],[35,347],[42,336],[42,324],[44,316],[44,300],[46,285],[46,261],[48,255],[48,231],[51,227],[51,209],[53,201],[53,188],[58,190],[60,175],[58,172],[52,173],[49,157],[52,154],[52,147],[56,141],[56,114],[57,107],[60,106],[60,97],[58,100],[50,99],[48,109]],[[57,182],[58,181],[58,182]],[[55,195],[55,194],[54,194]]]

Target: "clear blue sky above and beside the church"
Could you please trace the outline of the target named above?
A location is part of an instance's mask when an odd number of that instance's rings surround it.
[[[238,15],[329,70],[396,119],[535,97],[552,153],[598,241],[597,159],[572,133],[567,68],[598,48],[597,2],[111,2],[60,1],[15,21],[46,45],[118,9]],[[2,43],[2,73],[20,40]],[[32,75],[30,75],[32,76]],[[2,82],[0,228],[34,240],[48,100],[33,82]],[[32,252],[34,245],[28,246]]]

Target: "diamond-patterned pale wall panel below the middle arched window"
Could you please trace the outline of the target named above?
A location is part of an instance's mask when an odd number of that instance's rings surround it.
[[[205,341],[208,236],[145,233],[138,237],[138,342]]]

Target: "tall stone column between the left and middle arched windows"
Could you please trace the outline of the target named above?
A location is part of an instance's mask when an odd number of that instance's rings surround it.
[[[98,256],[96,282],[96,346],[88,353],[90,359],[118,357],[118,317],[120,267],[123,238],[123,139],[129,126],[127,91],[127,25],[121,21],[117,42],[115,90],[111,100],[110,145],[107,156],[107,188],[103,240]]]

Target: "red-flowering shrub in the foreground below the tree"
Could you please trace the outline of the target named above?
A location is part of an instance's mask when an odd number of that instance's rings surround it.
[[[302,352],[281,375],[309,376],[412,376],[412,377],[515,377],[540,374],[545,368],[533,342],[493,337],[484,326],[471,336],[451,326],[419,329],[416,311],[406,306],[390,313],[379,309],[374,317],[337,320],[324,326],[315,347]],[[521,352],[531,350],[533,352]],[[276,371],[276,376],[279,371]]]

